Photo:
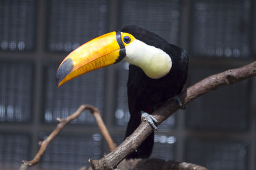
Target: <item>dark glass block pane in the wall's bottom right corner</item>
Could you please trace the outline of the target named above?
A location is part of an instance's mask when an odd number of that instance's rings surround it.
[[[247,158],[248,145],[244,142],[210,139],[188,139],[186,141],[186,161],[209,169],[248,169]]]

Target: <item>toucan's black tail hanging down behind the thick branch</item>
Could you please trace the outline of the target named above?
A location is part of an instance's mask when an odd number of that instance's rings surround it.
[[[125,138],[130,136],[132,132],[134,132],[135,129],[137,129],[137,127],[140,125],[140,122],[141,122],[140,116],[138,117],[131,116],[126,129]],[[127,155],[126,159],[138,159],[138,158],[147,159],[148,157],[150,157],[152,153],[153,146],[154,146],[154,132],[152,132],[152,134],[150,134],[145,139],[145,141],[141,143],[139,148],[137,148],[136,152],[132,152],[129,155]]]

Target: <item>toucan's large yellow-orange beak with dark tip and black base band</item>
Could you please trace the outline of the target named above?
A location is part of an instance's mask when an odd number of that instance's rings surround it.
[[[121,32],[109,32],[92,39],[71,52],[56,73],[58,87],[63,83],[101,67],[119,62],[125,57]]]

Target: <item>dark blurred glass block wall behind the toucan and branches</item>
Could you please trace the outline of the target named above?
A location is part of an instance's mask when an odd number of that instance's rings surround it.
[[[97,106],[116,143],[129,120],[128,64],[56,87],[58,64],[77,46],[135,24],[189,53],[187,87],[255,60],[252,0],[0,0],[0,169],[29,160],[56,126],[84,103]],[[78,169],[108,153],[85,112],[65,127],[33,169]],[[256,79],[188,104],[156,133],[152,157],[209,169],[256,169]]]

